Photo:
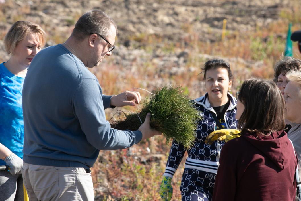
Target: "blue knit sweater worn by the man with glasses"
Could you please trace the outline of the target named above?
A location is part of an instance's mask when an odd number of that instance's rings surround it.
[[[113,81],[113,80],[112,80]],[[32,60],[23,86],[23,160],[29,164],[90,168],[99,150],[138,143],[140,131],[110,128],[97,78],[64,46],[50,46]]]

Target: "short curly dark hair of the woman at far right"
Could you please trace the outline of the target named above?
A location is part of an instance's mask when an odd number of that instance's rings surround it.
[[[273,81],[277,84],[278,76],[281,72],[284,72],[284,75],[286,75],[287,72],[296,70],[301,70],[301,60],[290,56],[284,57],[275,64]]]

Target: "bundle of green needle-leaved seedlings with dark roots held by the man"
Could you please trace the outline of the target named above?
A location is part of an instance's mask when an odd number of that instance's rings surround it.
[[[151,127],[163,132],[167,144],[174,139],[185,148],[193,145],[200,116],[194,108],[194,103],[183,94],[179,86],[164,86],[156,90],[149,100],[140,105],[138,112],[126,113],[125,119],[111,122],[111,127],[119,130],[137,130],[148,112],[151,113]]]

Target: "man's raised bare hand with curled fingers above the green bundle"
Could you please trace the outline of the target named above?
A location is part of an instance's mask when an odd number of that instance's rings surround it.
[[[135,106],[140,104],[141,96],[138,91],[125,91],[111,97],[111,106],[123,107],[126,105]]]

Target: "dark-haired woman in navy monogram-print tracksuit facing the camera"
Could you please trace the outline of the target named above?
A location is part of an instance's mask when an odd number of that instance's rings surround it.
[[[232,84],[230,65],[223,59],[207,61],[203,68],[206,94],[194,100],[200,111],[200,120],[194,146],[185,150],[183,145],[173,141],[160,186],[163,201],[172,197],[171,179],[185,152],[188,158],[182,176],[180,191],[183,201],[211,201],[219,156],[224,141],[205,144],[206,136],[217,129],[237,129],[236,99],[229,93]]]

